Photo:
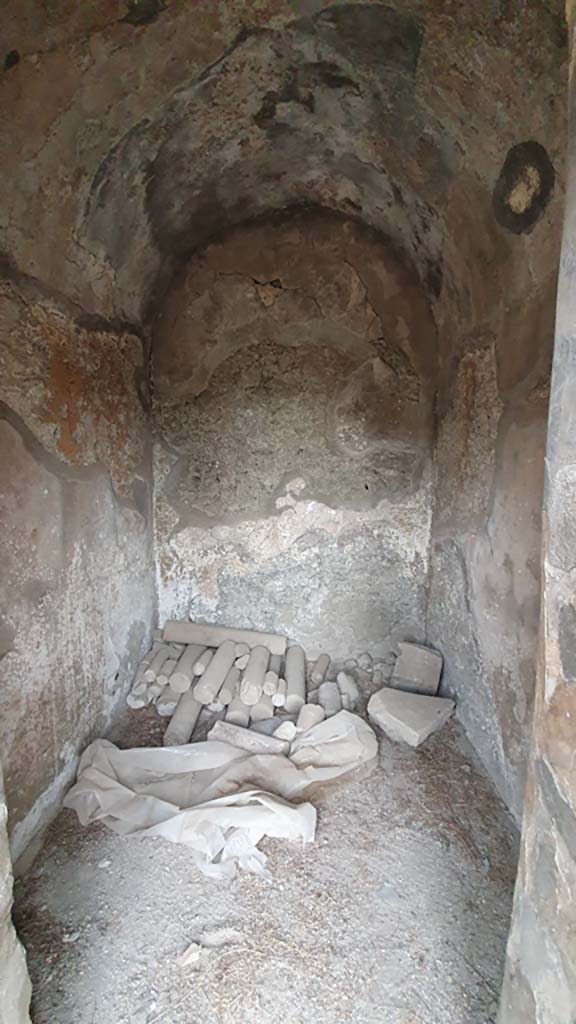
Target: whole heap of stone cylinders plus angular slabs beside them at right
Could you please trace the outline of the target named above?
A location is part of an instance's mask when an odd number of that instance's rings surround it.
[[[306,683],[303,648],[276,634],[170,621],[160,635],[164,642],[155,640],[140,662],[126,699],[134,709],[154,701],[159,715],[171,716],[164,742],[174,746],[193,739],[198,722],[202,735],[202,723],[207,721],[213,729],[218,716],[222,734],[229,728],[256,731],[291,742],[342,710],[354,712],[363,684],[367,682],[370,690],[374,684],[381,686],[395,657],[390,652],[373,660],[364,651],[346,659],[342,671],[341,662],[333,664],[329,654],[321,653],[307,664]],[[176,638],[183,636],[194,640],[182,649],[176,646]],[[284,647],[284,656],[271,653],[271,646]],[[451,700],[440,698],[425,703],[438,690],[441,671],[442,656],[437,651],[402,642],[394,679],[370,699],[369,716],[393,738],[414,746],[423,742],[454,708]],[[416,688],[421,688],[419,694]],[[218,730],[210,732],[213,738],[217,735]]]

